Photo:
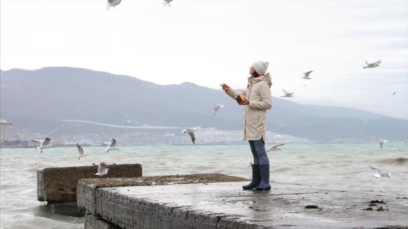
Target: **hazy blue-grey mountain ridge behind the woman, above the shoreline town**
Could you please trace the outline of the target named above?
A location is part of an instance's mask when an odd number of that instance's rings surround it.
[[[160,86],[80,68],[1,71],[1,117],[29,131],[49,131],[62,119],[158,126],[242,129],[242,107],[222,90],[194,83]],[[216,117],[212,108],[225,108]],[[299,105],[273,98],[268,130],[315,140],[408,138],[408,121],[351,108]]]

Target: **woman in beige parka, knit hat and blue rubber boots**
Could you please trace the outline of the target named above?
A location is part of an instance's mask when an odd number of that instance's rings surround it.
[[[270,190],[269,159],[265,149],[266,110],[272,107],[269,73],[266,73],[269,62],[256,61],[250,68],[251,77],[248,78],[248,87],[241,93],[235,92],[225,83],[221,84],[225,93],[233,99],[239,94],[245,99],[239,102],[243,106],[243,139],[248,140],[254,163],[252,165],[252,181],[243,189],[256,188]]]

